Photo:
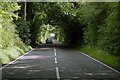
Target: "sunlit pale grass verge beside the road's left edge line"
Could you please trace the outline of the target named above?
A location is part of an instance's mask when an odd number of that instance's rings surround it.
[[[20,47],[13,46],[6,49],[0,49],[0,61],[2,64],[7,64],[8,62],[16,59],[30,49],[32,49],[32,47],[27,45],[22,45]]]

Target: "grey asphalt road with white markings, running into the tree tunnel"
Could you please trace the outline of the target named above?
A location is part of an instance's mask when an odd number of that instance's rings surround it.
[[[120,74],[54,41],[3,67],[2,80],[120,80]]]

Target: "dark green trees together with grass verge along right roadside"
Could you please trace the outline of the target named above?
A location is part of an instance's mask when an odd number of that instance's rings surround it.
[[[120,3],[86,3],[81,10],[84,41],[77,49],[120,71]]]

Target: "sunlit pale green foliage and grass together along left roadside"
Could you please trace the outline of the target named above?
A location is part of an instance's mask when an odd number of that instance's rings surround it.
[[[10,60],[19,57],[31,49],[16,34],[18,26],[15,25],[13,20],[19,17],[15,12],[19,9],[20,6],[17,2],[0,3],[0,60],[3,64],[8,63]]]

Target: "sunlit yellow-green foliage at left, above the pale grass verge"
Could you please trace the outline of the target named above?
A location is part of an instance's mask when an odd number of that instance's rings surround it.
[[[14,43],[14,38],[17,37],[15,32],[15,27],[16,25],[12,22],[13,17],[18,17],[17,14],[14,14],[15,10],[19,9],[19,6],[17,3],[5,3],[2,2],[0,3],[0,24],[1,24],[1,29],[0,29],[0,34],[1,34],[1,48],[7,48],[10,46],[15,45]]]

